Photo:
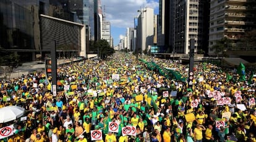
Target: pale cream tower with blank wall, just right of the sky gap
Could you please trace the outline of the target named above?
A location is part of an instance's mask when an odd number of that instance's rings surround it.
[[[137,48],[139,53],[148,53],[148,46],[153,45],[154,9],[145,7],[138,12]]]

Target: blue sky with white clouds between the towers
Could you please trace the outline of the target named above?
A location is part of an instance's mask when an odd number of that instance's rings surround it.
[[[114,45],[117,45],[126,35],[126,29],[134,27],[134,17],[139,15],[137,10],[151,7],[158,14],[159,0],[101,0],[101,6],[111,24]]]

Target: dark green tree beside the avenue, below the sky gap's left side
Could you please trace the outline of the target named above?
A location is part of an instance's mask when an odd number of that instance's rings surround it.
[[[108,41],[101,39],[95,42],[95,49],[99,50],[99,56],[105,60],[109,55],[114,53],[114,49],[110,47]]]

